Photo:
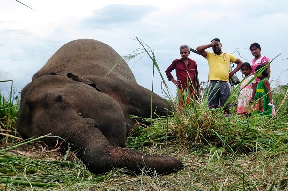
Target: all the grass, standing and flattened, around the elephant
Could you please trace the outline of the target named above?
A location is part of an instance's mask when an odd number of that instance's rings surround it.
[[[140,52],[153,53],[149,48]],[[157,69],[154,54],[150,58]],[[168,89],[163,92],[173,101]],[[234,95],[233,102],[237,93]],[[126,147],[174,156],[185,165],[178,173],[153,177],[144,173],[133,176],[125,169],[95,175],[69,149],[62,154],[60,148],[48,148],[37,139],[19,142],[14,138],[18,137],[18,102],[12,104],[13,96],[1,98],[0,190],[286,191],[287,96],[287,85],[274,89],[277,114],[273,118],[256,114],[245,118],[236,114],[235,108],[231,109],[232,116],[225,116],[222,109],[209,110],[204,96],[192,106],[176,107],[172,116],[144,119],[151,125],[138,124]]]

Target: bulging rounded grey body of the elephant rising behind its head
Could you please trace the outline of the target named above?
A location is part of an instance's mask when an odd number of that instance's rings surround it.
[[[85,65],[97,64],[107,69],[112,69],[128,80],[136,79],[128,64],[109,45],[93,39],[78,39],[64,44],[33,76],[33,80],[48,73],[66,75]],[[85,75],[85,71],[82,73]]]

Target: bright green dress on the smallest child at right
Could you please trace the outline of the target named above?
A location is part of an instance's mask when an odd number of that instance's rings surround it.
[[[264,80],[268,79],[264,78],[258,83],[256,94],[254,97],[254,100],[256,100],[256,102],[254,103],[254,110],[257,114],[260,114],[261,116],[272,114],[272,107],[268,105],[270,100],[267,94],[267,90],[264,86]]]

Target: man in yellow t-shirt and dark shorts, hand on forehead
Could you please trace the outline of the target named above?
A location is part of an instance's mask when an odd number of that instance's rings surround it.
[[[213,53],[205,51],[207,48],[212,48]],[[221,48],[222,44],[218,38],[213,39],[211,44],[197,47],[198,53],[207,59],[209,65],[208,106],[211,109],[224,106],[231,94],[229,78],[239,71],[243,64],[232,54],[222,52]],[[237,64],[232,72],[229,72],[230,62]],[[229,108],[224,109],[224,112],[230,114]]]

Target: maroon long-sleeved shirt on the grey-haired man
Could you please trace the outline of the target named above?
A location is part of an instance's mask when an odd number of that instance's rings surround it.
[[[187,85],[187,79],[188,79],[190,83],[189,89],[195,90],[196,92],[196,87],[197,88],[200,87],[196,62],[192,59],[189,59],[189,62],[186,67],[182,59],[174,60],[172,64],[165,71],[169,81],[173,78],[171,71],[173,71],[174,69],[177,76],[177,80],[180,82],[178,88],[182,87],[183,89],[186,88],[188,86]],[[195,86],[196,84],[197,86]]]

